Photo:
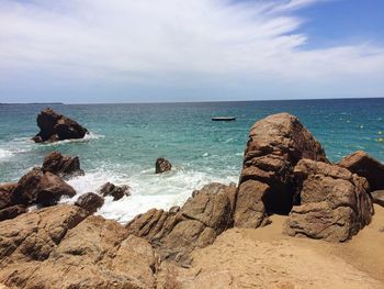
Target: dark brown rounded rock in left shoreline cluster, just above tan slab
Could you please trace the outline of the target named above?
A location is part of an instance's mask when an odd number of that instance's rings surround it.
[[[16,204],[52,205],[63,197],[74,197],[76,191],[60,177],[43,173],[41,168],[34,168],[24,175],[13,190],[12,200]]]

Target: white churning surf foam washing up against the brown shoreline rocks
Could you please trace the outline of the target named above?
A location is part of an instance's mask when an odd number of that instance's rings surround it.
[[[86,192],[97,192],[106,181],[128,185],[132,188],[129,197],[124,197],[118,201],[105,198],[104,205],[98,211],[98,214],[106,219],[126,223],[135,215],[153,208],[168,210],[172,205],[181,205],[193,190],[210,182],[229,184],[237,180],[238,176],[217,178],[203,171],[187,171],[182,168],[162,175],[154,174],[154,169],[145,169],[133,176],[101,169],[69,180],[69,185],[77,190],[78,194],[72,199],[61,200],[61,202],[74,203],[79,196]]]

